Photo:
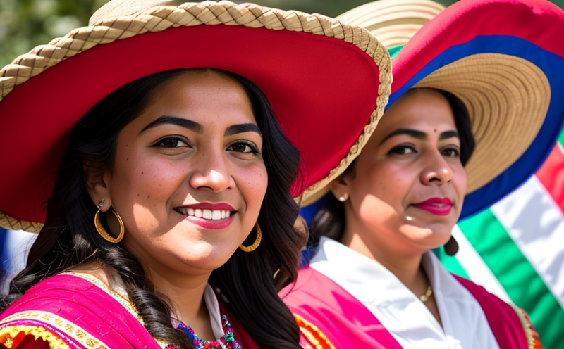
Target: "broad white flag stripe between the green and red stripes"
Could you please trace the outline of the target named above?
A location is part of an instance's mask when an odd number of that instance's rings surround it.
[[[564,217],[537,177],[491,207],[564,308]]]

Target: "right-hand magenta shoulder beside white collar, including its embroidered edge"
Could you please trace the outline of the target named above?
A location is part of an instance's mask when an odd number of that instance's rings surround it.
[[[470,291],[482,307],[500,348],[542,348],[539,336],[525,310],[505,303],[486,288],[468,279],[454,274],[453,276]]]

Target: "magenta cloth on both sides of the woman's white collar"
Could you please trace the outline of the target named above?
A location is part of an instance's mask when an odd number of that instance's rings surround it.
[[[472,281],[454,275],[484,310],[500,349],[527,349],[525,329],[517,313],[503,300]],[[377,290],[375,290],[377,292]],[[295,284],[280,296],[293,313],[314,324],[335,348],[402,348],[357,298],[324,274],[307,266]]]

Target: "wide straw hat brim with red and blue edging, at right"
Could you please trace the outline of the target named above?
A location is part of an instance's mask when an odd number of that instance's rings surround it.
[[[551,151],[564,120],[563,31],[564,11],[548,1],[461,0],[393,56],[388,107],[433,87],[469,110],[476,148],[461,218],[513,191]]]

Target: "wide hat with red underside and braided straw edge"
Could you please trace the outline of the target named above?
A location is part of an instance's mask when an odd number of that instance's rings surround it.
[[[90,26],[0,70],[0,227],[39,231],[68,136],[97,101],[155,72],[204,67],[247,77],[269,99],[302,155],[294,196],[344,170],[390,93],[388,52],[360,27],[229,1],[110,1]]]

